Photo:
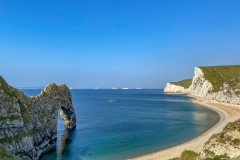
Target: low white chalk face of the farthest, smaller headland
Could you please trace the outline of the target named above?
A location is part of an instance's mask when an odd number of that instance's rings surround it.
[[[167,83],[166,87],[164,88],[164,92],[165,93],[184,93],[184,94],[188,94],[190,92],[190,88],[184,88],[182,86],[178,86],[172,83]]]

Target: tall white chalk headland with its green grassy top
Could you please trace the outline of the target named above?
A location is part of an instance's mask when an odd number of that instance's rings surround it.
[[[190,95],[240,105],[240,66],[196,67]]]

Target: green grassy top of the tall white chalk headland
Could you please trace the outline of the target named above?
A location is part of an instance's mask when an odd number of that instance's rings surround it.
[[[205,78],[213,85],[213,92],[218,92],[226,82],[233,88],[240,88],[240,65],[232,66],[204,66],[202,69]]]

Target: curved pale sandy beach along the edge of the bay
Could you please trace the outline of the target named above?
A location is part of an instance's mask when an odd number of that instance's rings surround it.
[[[202,135],[188,142],[158,152],[131,158],[129,160],[168,160],[170,158],[180,157],[184,150],[200,152],[204,144],[213,134],[221,132],[229,122],[240,119],[240,106],[204,102],[202,100],[194,100],[193,103],[216,111],[220,115],[219,122]]]

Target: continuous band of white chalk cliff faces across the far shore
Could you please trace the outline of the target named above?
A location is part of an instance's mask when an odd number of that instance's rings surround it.
[[[240,73],[240,70],[237,70],[236,72]],[[224,78],[224,76],[218,71],[211,76],[215,79],[219,77],[223,83],[217,85],[214,84],[214,88],[213,84],[208,78],[206,78],[203,69],[201,67],[196,67],[194,69],[192,84],[189,88],[186,89],[179,85],[167,83],[166,87],[164,88],[164,92],[184,93],[200,97],[207,101],[240,105],[240,77],[231,78],[228,80],[227,78]],[[216,88],[219,89],[216,90]]]

